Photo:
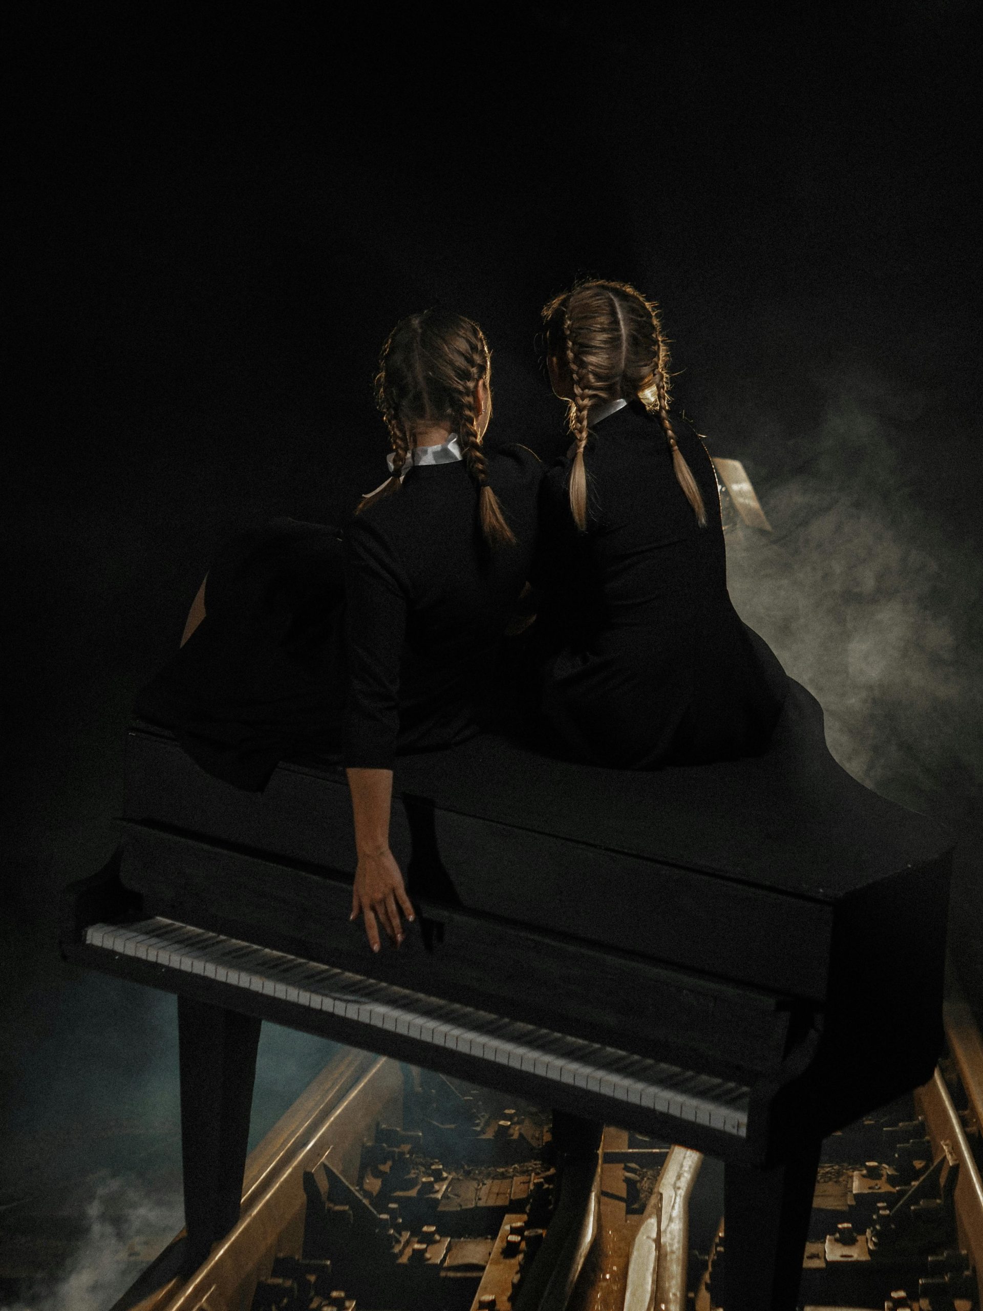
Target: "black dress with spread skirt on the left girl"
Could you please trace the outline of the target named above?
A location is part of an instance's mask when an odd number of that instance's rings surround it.
[[[389,768],[477,733],[532,562],[543,467],[489,459],[516,538],[490,549],[464,461],[418,465],[345,532],[278,519],[225,543],[206,619],[140,692],[202,768],[262,789],[286,756]]]

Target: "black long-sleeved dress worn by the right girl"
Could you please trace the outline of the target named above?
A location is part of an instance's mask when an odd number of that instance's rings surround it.
[[[570,460],[543,481],[535,569],[543,709],[568,749],[598,764],[759,754],[786,695],[781,666],[727,594],[709,455],[689,423],[674,418],[674,429],[703,493],[704,528],[661,425],[637,401],[588,438],[586,532],[570,514]]]

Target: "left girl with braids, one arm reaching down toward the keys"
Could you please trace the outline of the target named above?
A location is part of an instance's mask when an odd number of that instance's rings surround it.
[[[490,354],[461,315],[397,324],[375,385],[389,477],[343,534],[280,519],[225,544],[138,713],[237,787],[263,788],[284,756],[342,763],[353,919],[377,950],[379,923],[398,943],[413,914],[389,851],[395,758],[478,732],[532,562],[541,465],[520,446],[485,452]]]

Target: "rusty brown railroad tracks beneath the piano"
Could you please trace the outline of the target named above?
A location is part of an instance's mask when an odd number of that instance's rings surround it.
[[[954,987],[945,1032],[929,1083],[827,1141],[803,1311],[983,1308],[983,1041]],[[250,1155],[233,1232],[190,1277],[178,1235],[111,1311],[716,1311],[726,1231],[689,1231],[699,1152],[607,1127],[557,1189],[548,1117],[486,1096],[341,1053]]]

